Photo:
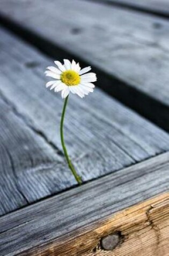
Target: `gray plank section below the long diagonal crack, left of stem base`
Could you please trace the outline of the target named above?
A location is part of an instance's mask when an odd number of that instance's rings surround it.
[[[0,215],[74,184],[57,150],[0,95]]]

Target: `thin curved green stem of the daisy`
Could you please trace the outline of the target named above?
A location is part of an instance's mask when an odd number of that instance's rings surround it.
[[[76,181],[78,182],[78,184],[82,184],[82,179],[80,176],[77,175],[77,172],[74,168],[74,165],[72,165],[71,161],[70,161],[70,158],[69,158],[69,155],[68,155],[68,151],[67,151],[67,148],[65,147],[65,143],[64,143],[64,135],[63,135],[63,122],[64,122],[64,115],[65,115],[65,109],[67,107],[67,103],[68,103],[68,97],[69,95],[67,96],[67,98],[65,98],[64,100],[64,105],[63,105],[63,110],[62,110],[62,116],[61,116],[61,142],[62,142],[62,148],[63,148],[63,151],[64,151],[64,155],[65,155],[65,158],[68,162],[68,166],[72,172],[72,174],[74,175]]]

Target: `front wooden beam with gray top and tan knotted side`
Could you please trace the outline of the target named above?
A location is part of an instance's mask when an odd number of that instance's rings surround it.
[[[0,253],[154,256],[156,250],[167,256],[168,174],[165,153],[1,217]],[[123,238],[121,246],[94,253],[100,239],[114,232]]]

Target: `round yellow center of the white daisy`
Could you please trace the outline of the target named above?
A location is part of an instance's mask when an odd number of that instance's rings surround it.
[[[68,86],[78,85],[80,82],[80,75],[74,70],[67,70],[61,74],[61,81]]]

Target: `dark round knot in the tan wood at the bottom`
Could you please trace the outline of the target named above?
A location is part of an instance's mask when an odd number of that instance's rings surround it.
[[[120,243],[119,233],[109,234],[101,239],[101,247],[106,251],[112,251]]]

